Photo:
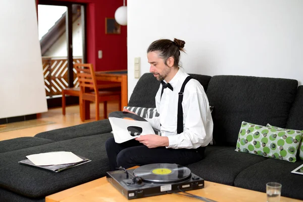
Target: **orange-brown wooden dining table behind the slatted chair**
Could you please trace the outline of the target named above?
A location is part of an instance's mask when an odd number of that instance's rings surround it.
[[[118,82],[121,84],[121,111],[123,111],[123,107],[128,104],[127,97],[127,70],[116,70],[116,71],[101,71],[95,72],[97,81],[110,81],[110,82]],[[90,107],[89,102],[84,105],[85,119],[90,119]]]

